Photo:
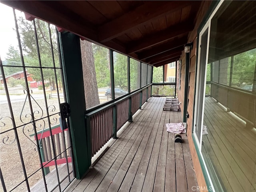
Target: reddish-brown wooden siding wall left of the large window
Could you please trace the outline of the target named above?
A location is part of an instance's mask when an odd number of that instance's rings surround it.
[[[192,127],[193,127],[193,109],[194,109],[194,92],[195,92],[195,70],[196,70],[196,43],[197,43],[197,32],[198,27],[200,26],[211,1],[204,1],[199,8],[198,15],[196,16],[196,23],[194,30],[190,32],[188,36],[188,43],[193,42],[193,47],[190,54],[190,70],[189,70],[189,88],[188,88],[188,114],[190,115],[187,120],[187,135],[189,141],[189,147],[192,155],[192,160],[194,163],[194,169],[196,171],[196,177],[198,180],[198,186],[202,187],[202,189],[206,188],[206,182],[204,179],[204,175],[202,172],[202,168],[200,166],[200,162],[196,153],[196,148],[194,146],[194,142],[192,139]],[[184,51],[182,52],[181,56],[181,83],[180,83],[180,90],[178,92],[178,99],[181,102],[181,111],[183,114],[183,103],[184,103],[184,85],[185,85],[185,68],[186,68],[186,55]]]

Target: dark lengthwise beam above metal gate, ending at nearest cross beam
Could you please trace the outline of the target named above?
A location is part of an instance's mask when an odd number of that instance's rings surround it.
[[[74,34],[83,36],[86,39],[98,42],[94,26],[86,22],[75,12],[69,12],[67,9],[58,4],[58,1],[7,1],[1,0],[2,3],[14,7],[18,10],[31,14],[46,22],[52,23]],[[89,27],[88,27],[89,26]]]

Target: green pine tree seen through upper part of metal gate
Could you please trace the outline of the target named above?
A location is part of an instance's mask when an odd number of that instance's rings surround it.
[[[39,66],[38,54],[36,48],[36,38],[34,33],[34,25],[32,22],[25,20],[22,17],[17,18],[18,28],[21,37],[21,45],[24,54],[24,62],[26,66]],[[35,20],[38,47],[40,50],[40,59],[43,67],[53,67],[50,36],[48,30],[48,23],[42,20]],[[52,33],[52,48],[54,52],[54,60],[58,66],[58,48],[56,42],[56,35],[54,34],[54,26],[50,25]],[[38,68],[28,68],[28,72],[32,74],[32,77],[40,81],[42,80],[40,70]],[[58,80],[61,81],[60,71],[57,70]],[[53,69],[43,70],[44,80],[49,80],[53,90],[56,90],[55,86],[55,74]]]

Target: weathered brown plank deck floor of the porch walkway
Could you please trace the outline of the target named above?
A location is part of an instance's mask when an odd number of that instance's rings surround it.
[[[197,186],[188,140],[174,143],[165,124],[181,112],[163,111],[165,98],[150,98],[133,122],[82,180],[66,191],[187,192]]]

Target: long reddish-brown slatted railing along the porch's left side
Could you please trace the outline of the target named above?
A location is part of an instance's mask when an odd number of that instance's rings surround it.
[[[132,115],[151,96],[151,86],[152,84],[149,84],[140,90],[116,98],[104,106],[90,109],[85,115],[88,133],[91,135],[89,150],[92,157],[110,138],[116,138],[116,132],[127,121],[132,121]]]

